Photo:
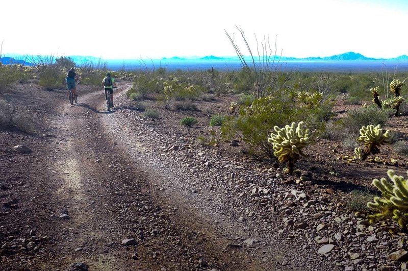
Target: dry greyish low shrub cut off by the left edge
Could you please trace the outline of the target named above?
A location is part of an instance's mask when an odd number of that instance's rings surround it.
[[[33,131],[32,117],[12,107],[5,100],[0,100],[0,127],[29,133]]]

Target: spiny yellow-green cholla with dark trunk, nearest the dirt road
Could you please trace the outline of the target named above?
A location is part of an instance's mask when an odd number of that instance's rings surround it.
[[[268,138],[273,146],[273,154],[279,162],[288,163],[288,171],[292,174],[295,162],[300,155],[304,156],[301,150],[309,145],[309,129],[303,129],[303,121],[297,126],[292,122],[291,126],[287,125],[284,128],[275,126],[273,129],[276,133],[271,133],[271,137]]]

